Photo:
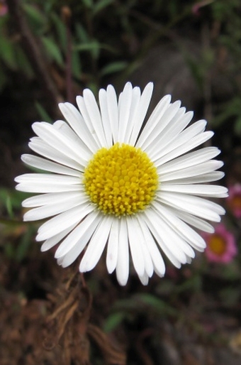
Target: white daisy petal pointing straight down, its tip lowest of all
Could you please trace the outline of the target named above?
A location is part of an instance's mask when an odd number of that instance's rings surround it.
[[[120,285],[127,283],[129,276],[129,249],[126,218],[120,218],[118,261],[116,265],[116,278]]]

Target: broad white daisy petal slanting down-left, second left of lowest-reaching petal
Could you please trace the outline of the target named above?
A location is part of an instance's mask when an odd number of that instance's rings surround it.
[[[82,261],[79,265],[80,272],[86,272],[92,270],[96,263],[99,261],[103,249],[106,246],[108,235],[110,234],[112,217],[109,215],[104,216],[99,226],[96,227],[93,236],[89,242],[89,245],[84,253]]]

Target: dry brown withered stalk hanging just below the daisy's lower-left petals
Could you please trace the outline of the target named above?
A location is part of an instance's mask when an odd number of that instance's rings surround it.
[[[92,295],[79,272],[66,271],[56,293],[49,295],[52,312],[47,317],[47,334],[43,346],[47,350],[62,346],[65,364],[91,365],[90,340],[96,344],[106,365],[125,365],[125,352],[116,349],[103,331],[89,322]],[[74,362],[75,364],[75,362]]]

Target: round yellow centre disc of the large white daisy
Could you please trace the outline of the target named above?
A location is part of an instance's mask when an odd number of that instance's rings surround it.
[[[104,214],[134,214],[145,209],[158,186],[157,168],[140,148],[115,143],[101,148],[84,170],[91,202]]]

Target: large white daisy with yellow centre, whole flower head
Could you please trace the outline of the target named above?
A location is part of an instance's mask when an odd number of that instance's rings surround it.
[[[77,97],[79,110],[60,104],[66,121],[37,122],[24,154],[27,165],[47,173],[18,176],[17,190],[40,193],[23,201],[25,221],[46,219],[38,229],[42,251],[59,244],[57,263],[69,266],[82,254],[79,271],[90,271],[106,248],[108,273],[120,285],[129,276],[129,252],[141,282],[164,276],[164,253],[174,266],[190,263],[206,244],[195,229],[213,232],[225,210],[206,197],[226,197],[209,182],[223,178],[215,147],[195,148],[213,136],[206,121],[190,124],[193,112],[163,97],[144,124],[152,97],[128,82],[119,98],[109,85]],[[190,152],[191,151],[191,152]],[[204,184],[203,184],[204,183]],[[194,227],[194,228],[192,228]]]

